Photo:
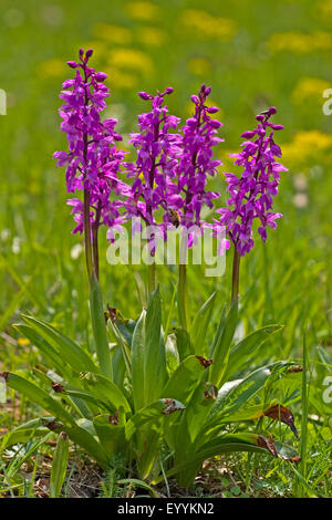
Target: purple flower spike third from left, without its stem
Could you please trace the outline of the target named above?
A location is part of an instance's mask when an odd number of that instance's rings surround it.
[[[198,95],[191,95],[195,113],[183,127],[178,191],[181,194],[181,223],[187,228],[193,225],[200,227],[203,206],[212,208],[212,200],[219,197],[218,193],[206,190],[208,176],[214,176],[222,164],[214,158],[212,147],[224,142],[217,136],[222,124],[211,117],[218,108],[206,105],[210,91],[204,84]]]

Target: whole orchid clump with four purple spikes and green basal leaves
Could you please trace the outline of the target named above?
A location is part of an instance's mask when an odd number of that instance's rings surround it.
[[[253,247],[252,223],[259,221],[258,232],[266,241],[267,228],[276,228],[281,217],[272,210],[280,171],[286,170],[276,160],[281,150],[273,133],[282,128],[270,122],[276,108],[259,114],[258,127],[242,134],[243,149],[235,156],[242,173],[240,177],[226,174],[230,194],[227,207],[217,210],[219,219],[215,222],[206,222],[203,207],[212,209],[219,199],[218,193],[208,190],[208,178],[221,166],[214,149],[222,142],[218,136],[221,123],[212,117],[218,110],[207,103],[210,87],[204,84],[198,95],[191,96],[194,114],[183,127],[165,105],[173,89],[156,95],[141,92],[141,98],[152,107],[138,116],[138,132],[131,136],[136,158],[125,162],[125,153],[118,148],[122,137],[115,129],[116,119],[101,118],[110,92],[104,84],[106,75],[89,65],[92,50],[81,49],[79,61],[69,62],[75,76],[64,82],[60,96],[64,102],[60,108],[61,128],[69,150],[55,152],[54,158],[58,166],[66,168],[68,191],[76,195],[68,204],[76,222],[73,232],[84,235],[96,358],[50,324],[23,315],[25,323],[18,327],[51,363],[50,371],[35,367],[41,385],[32,377],[27,381],[18,374],[2,373],[9,387],[48,412],[25,428],[32,428],[32,435],[39,427],[64,431],[104,470],[110,469],[115,456],[121,456],[128,467],[135,464],[142,479],[154,478],[157,482],[166,474],[175,475],[186,488],[204,460],[215,455],[261,453],[297,462],[299,457],[289,445],[274,444],[271,437],[250,428],[243,431],[241,426],[269,417],[287,424],[298,435],[291,412],[276,404],[270,389],[266,392],[268,382],[270,388],[288,374],[292,363],[273,362],[235,378],[248,356],[252,361],[252,352],[281,329],[266,325],[237,344],[234,341],[239,263]],[[80,193],[83,200],[77,197]],[[112,308],[104,312],[98,284],[98,230],[106,226],[112,240],[114,229],[132,217],[160,229],[164,239],[169,226],[179,222],[185,230],[191,226],[209,227],[215,232],[226,228],[234,243],[232,303],[227,314],[218,316],[211,343],[207,329],[216,293],[193,321],[188,320],[186,266],[179,264],[179,326],[174,334],[168,334],[166,327],[166,342],[154,270],[148,275],[147,310],[143,309],[138,319],[120,320]],[[112,346],[107,333],[112,334]],[[168,340],[174,345],[169,364]],[[61,394],[60,398],[52,393]],[[169,420],[174,413],[176,420]],[[232,426],[226,429],[225,424]],[[21,427],[19,435],[22,431],[25,439],[29,429]],[[17,443],[21,437],[12,438]]]

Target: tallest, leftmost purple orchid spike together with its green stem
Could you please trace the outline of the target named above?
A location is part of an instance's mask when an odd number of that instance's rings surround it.
[[[64,105],[60,108],[62,132],[66,133],[69,153],[55,152],[58,166],[66,166],[69,193],[83,191],[83,201],[72,198],[76,227],[73,232],[84,231],[85,259],[90,283],[90,305],[96,352],[102,372],[112,377],[108,340],[103,316],[103,301],[98,285],[98,230],[101,225],[112,231],[124,222],[120,214],[121,197],[126,197],[129,187],[118,179],[124,152],[117,149],[122,141],[115,132],[117,121],[101,121],[100,113],[106,107],[110,91],[104,81],[107,75],[89,66],[92,49],[84,53],[80,49],[79,61],[68,62],[76,71],[75,77],[63,83],[60,94]],[[114,193],[117,198],[112,201]]]

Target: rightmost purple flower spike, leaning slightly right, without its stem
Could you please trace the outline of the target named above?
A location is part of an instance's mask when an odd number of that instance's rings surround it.
[[[257,115],[258,127],[241,135],[246,139],[241,145],[242,152],[230,154],[236,158],[235,164],[243,167],[241,177],[225,174],[230,197],[226,201],[228,207],[217,210],[220,214],[218,225],[226,227],[228,237],[240,256],[253,248],[252,222],[256,218],[260,220],[258,232],[266,241],[267,228],[276,229],[276,220],[282,217],[272,211],[280,171],[287,171],[276,160],[276,157],[281,157],[281,149],[274,143],[273,133],[283,128],[282,125],[270,123],[270,117],[276,113],[277,110],[271,106]],[[255,141],[248,141],[252,138]]]

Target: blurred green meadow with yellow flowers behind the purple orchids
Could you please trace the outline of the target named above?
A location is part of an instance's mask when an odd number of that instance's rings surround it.
[[[221,171],[236,171],[228,154],[238,149],[240,134],[253,127],[256,113],[274,105],[273,122],[284,125],[278,143],[289,168],[274,209],[284,217],[268,233],[267,245],[257,240],[242,262],[246,313],[239,334],[267,323],[286,325],[264,344],[259,363],[277,357],[300,362],[305,335],[312,381],[308,481],[326,496],[331,404],[322,399],[329,375],[322,363],[331,365],[332,355],[332,116],[322,112],[322,93],[332,87],[332,1],[1,0],[0,7],[0,87],[8,95],[7,115],[0,116],[0,368],[27,374],[38,363],[35,350],[11,327],[21,312],[90,342],[82,240],[71,235],[64,170],[52,160],[53,152],[66,146],[58,95],[72,74],[65,62],[76,58],[80,46],[93,48],[93,66],[108,74],[107,116],[118,117],[125,135],[145,110],[137,91],[173,86],[169,110],[186,118],[190,94],[204,82],[212,87],[224,123],[225,143],[218,147],[224,166],[214,180],[220,191]],[[131,277],[127,267],[107,266],[105,240],[102,247],[105,300],[135,318],[144,271],[135,268]],[[200,267],[189,269],[193,312],[216,288],[219,309],[229,298],[228,263],[220,279],[204,278]],[[167,308],[176,272],[169,267],[158,272]],[[0,405],[0,431],[34,413],[29,403],[10,397],[10,405]],[[299,404],[295,418],[299,425]],[[262,488],[272,495],[290,492],[292,469],[269,460],[259,471],[263,483],[257,493]]]

